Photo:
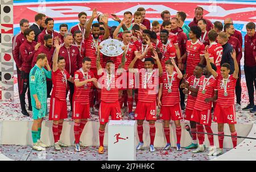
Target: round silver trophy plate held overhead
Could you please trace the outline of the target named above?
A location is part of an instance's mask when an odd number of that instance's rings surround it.
[[[100,46],[102,46],[102,49],[100,50],[102,54],[109,57],[117,57],[123,53],[122,47],[125,45],[123,45],[123,42],[121,41],[108,39],[102,41]]]

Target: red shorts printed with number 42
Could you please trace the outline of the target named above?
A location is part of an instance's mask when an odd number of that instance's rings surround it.
[[[214,118],[217,123],[236,124],[237,117],[234,105],[229,108],[221,108],[220,105],[216,104],[214,108]]]

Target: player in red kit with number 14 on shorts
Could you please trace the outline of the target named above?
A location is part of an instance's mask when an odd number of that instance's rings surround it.
[[[158,92],[158,106],[161,108],[160,119],[164,121],[164,135],[166,136],[167,145],[164,150],[171,147],[170,141],[170,120],[174,121],[176,126],[177,137],[177,151],[181,151],[180,137],[181,137],[181,107],[179,83],[183,75],[177,67],[174,58],[168,59],[165,62],[166,72],[160,78],[160,87]],[[174,68],[176,71],[174,71]],[[162,97],[162,99],[161,99]],[[177,101],[179,100],[179,101]]]

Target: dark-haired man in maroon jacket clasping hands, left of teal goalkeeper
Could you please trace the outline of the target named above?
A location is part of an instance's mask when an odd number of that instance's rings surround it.
[[[22,114],[26,116],[30,116],[26,110],[26,102],[25,102],[25,95],[28,89],[28,109],[32,110],[31,106],[31,97],[30,97],[30,88],[29,88],[29,75],[30,70],[32,68],[32,60],[35,54],[35,51],[38,50],[40,43],[36,44],[35,40],[35,33],[32,29],[26,29],[24,31],[24,37],[26,37],[26,41],[23,42],[22,45],[19,47],[20,51],[20,59],[21,59],[21,74],[20,74],[20,92],[19,92],[19,99],[20,99],[20,108],[22,109]]]

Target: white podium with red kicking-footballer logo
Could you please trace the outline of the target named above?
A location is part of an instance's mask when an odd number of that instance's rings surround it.
[[[136,160],[136,121],[110,120],[108,126],[108,160]]]

